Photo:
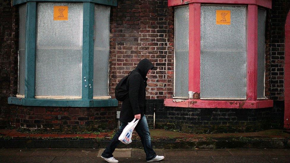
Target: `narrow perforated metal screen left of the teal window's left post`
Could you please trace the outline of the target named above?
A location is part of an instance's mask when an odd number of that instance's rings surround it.
[[[26,4],[19,6],[18,94],[25,89]]]

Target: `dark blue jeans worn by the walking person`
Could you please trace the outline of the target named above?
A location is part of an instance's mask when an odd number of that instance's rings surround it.
[[[121,142],[120,140],[118,140],[118,138],[126,126],[127,126],[127,123],[123,123],[123,122],[121,123],[121,126],[119,127],[118,132],[116,132],[113,139],[110,141],[107,148],[102,153],[103,157],[105,158],[113,157],[113,152],[115,151],[117,145],[119,145],[119,143]],[[145,115],[143,115],[142,119],[139,120],[137,126],[135,127],[135,130],[138,133],[141,139],[141,142],[143,144],[143,148],[146,153],[146,161],[154,159],[156,157],[156,153],[152,149],[149,127],[148,127]]]

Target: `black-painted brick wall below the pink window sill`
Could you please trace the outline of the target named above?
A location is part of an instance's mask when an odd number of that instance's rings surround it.
[[[275,101],[273,108],[262,109],[198,109],[163,107],[163,100],[148,100],[147,121],[161,129],[179,129],[193,133],[253,132],[283,126],[284,104]],[[155,110],[154,110],[155,108]]]

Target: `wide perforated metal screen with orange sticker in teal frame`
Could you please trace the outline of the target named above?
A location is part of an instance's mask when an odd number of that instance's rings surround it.
[[[54,6],[68,7],[67,20]],[[36,97],[81,98],[82,38],[82,3],[37,4]]]

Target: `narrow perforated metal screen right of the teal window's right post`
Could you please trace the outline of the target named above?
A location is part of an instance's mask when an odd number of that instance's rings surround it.
[[[94,9],[94,90],[93,95],[109,96],[109,33],[110,7],[95,5]]]

